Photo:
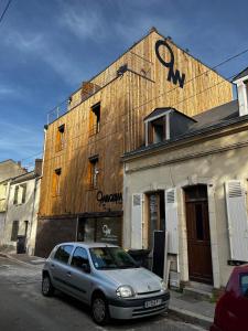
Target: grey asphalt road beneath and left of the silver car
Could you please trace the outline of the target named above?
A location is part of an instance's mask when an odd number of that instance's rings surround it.
[[[41,295],[42,265],[25,266],[0,257],[0,330],[1,331],[82,331],[82,330],[203,330],[159,316],[139,321],[112,321],[96,325],[89,309],[61,292],[53,298]]]

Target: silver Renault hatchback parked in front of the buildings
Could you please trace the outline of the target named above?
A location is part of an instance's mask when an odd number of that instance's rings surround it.
[[[42,293],[66,292],[91,308],[98,324],[109,318],[136,319],[164,312],[164,281],[141,268],[122,248],[103,243],[57,245],[42,271]]]

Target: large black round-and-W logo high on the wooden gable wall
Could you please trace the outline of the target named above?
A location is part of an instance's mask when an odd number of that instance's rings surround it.
[[[166,49],[170,53],[170,62],[166,62],[160,54],[161,49]],[[185,83],[185,74],[180,73],[179,70],[174,70],[174,54],[172,52],[171,46],[166,43],[165,40],[158,40],[155,43],[155,55],[159,58],[159,61],[169,68],[168,72],[168,81],[172,82],[174,85],[179,83],[179,86],[183,88]]]

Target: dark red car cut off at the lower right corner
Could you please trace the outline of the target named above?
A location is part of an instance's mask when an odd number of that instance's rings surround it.
[[[234,268],[211,331],[248,331],[248,265]]]

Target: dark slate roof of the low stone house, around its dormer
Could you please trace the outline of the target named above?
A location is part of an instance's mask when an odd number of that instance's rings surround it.
[[[125,153],[123,159],[162,146],[171,146],[179,140],[184,140],[190,137],[203,136],[204,134],[213,129],[226,127],[233,125],[234,122],[244,121],[244,120],[248,121],[248,115],[241,117],[239,116],[238,100],[233,100],[222,106],[212,108],[192,118],[196,120],[196,122],[193,122],[188,127],[188,129],[184,131],[184,134],[175,135],[170,140],[165,140],[149,146],[143,146],[137,150]]]

